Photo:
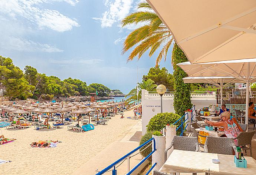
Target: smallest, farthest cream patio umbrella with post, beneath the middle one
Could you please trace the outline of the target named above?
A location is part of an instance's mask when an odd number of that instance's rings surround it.
[[[223,87],[232,83],[244,83],[243,80],[234,77],[185,77],[184,83],[210,83],[220,87],[220,106],[223,104]],[[252,83],[256,82],[256,79]]]

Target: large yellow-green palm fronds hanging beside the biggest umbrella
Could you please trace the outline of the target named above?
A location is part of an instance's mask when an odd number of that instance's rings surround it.
[[[135,29],[127,36],[122,49],[122,54],[136,45],[127,59],[127,61],[131,61],[136,56],[140,59],[147,50],[150,50],[149,56],[151,57],[158,49],[160,49],[160,47],[162,47],[155,62],[155,65],[158,66],[163,57],[164,60],[166,60],[168,49],[173,42],[173,36],[147,2],[143,1],[139,3],[138,9],[147,10],[129,14],[122,20],[122,27],[145,22],[147,24]]]

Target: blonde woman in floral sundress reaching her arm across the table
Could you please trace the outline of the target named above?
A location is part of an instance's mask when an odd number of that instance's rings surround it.
[[[205,123],[208,123],[212,126],[222,126],[224,127],[224,132],[227,137],[236,138],[240,132],[243,131],[243,129],[240,127],[240,125],[237,123],[237,121],[230,119],[230,113],[229,112],[223,112],[220,115],[222,121],[220,122],[211,122],[209,120],[204,120]],[[234,142],[237,145],[237,140],[234,140]]]

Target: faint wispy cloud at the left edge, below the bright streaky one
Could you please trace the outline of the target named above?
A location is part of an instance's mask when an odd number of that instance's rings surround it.
[[[55,46],[49,44],[36,43],[31,40],[15,37],[4,37],[0,42],[0,48],[5,50],[17,50],[24,52],[63,52]]]

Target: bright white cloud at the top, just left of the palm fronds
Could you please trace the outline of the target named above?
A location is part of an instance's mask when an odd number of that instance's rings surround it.
[[[105,0],[105,6],[108,8],[102,13],[101,18],[93,18],[101,20],[101,27],[111,27],[115,22],[120,22],[125,16],[129,14],[132,9],[133,0]]]

